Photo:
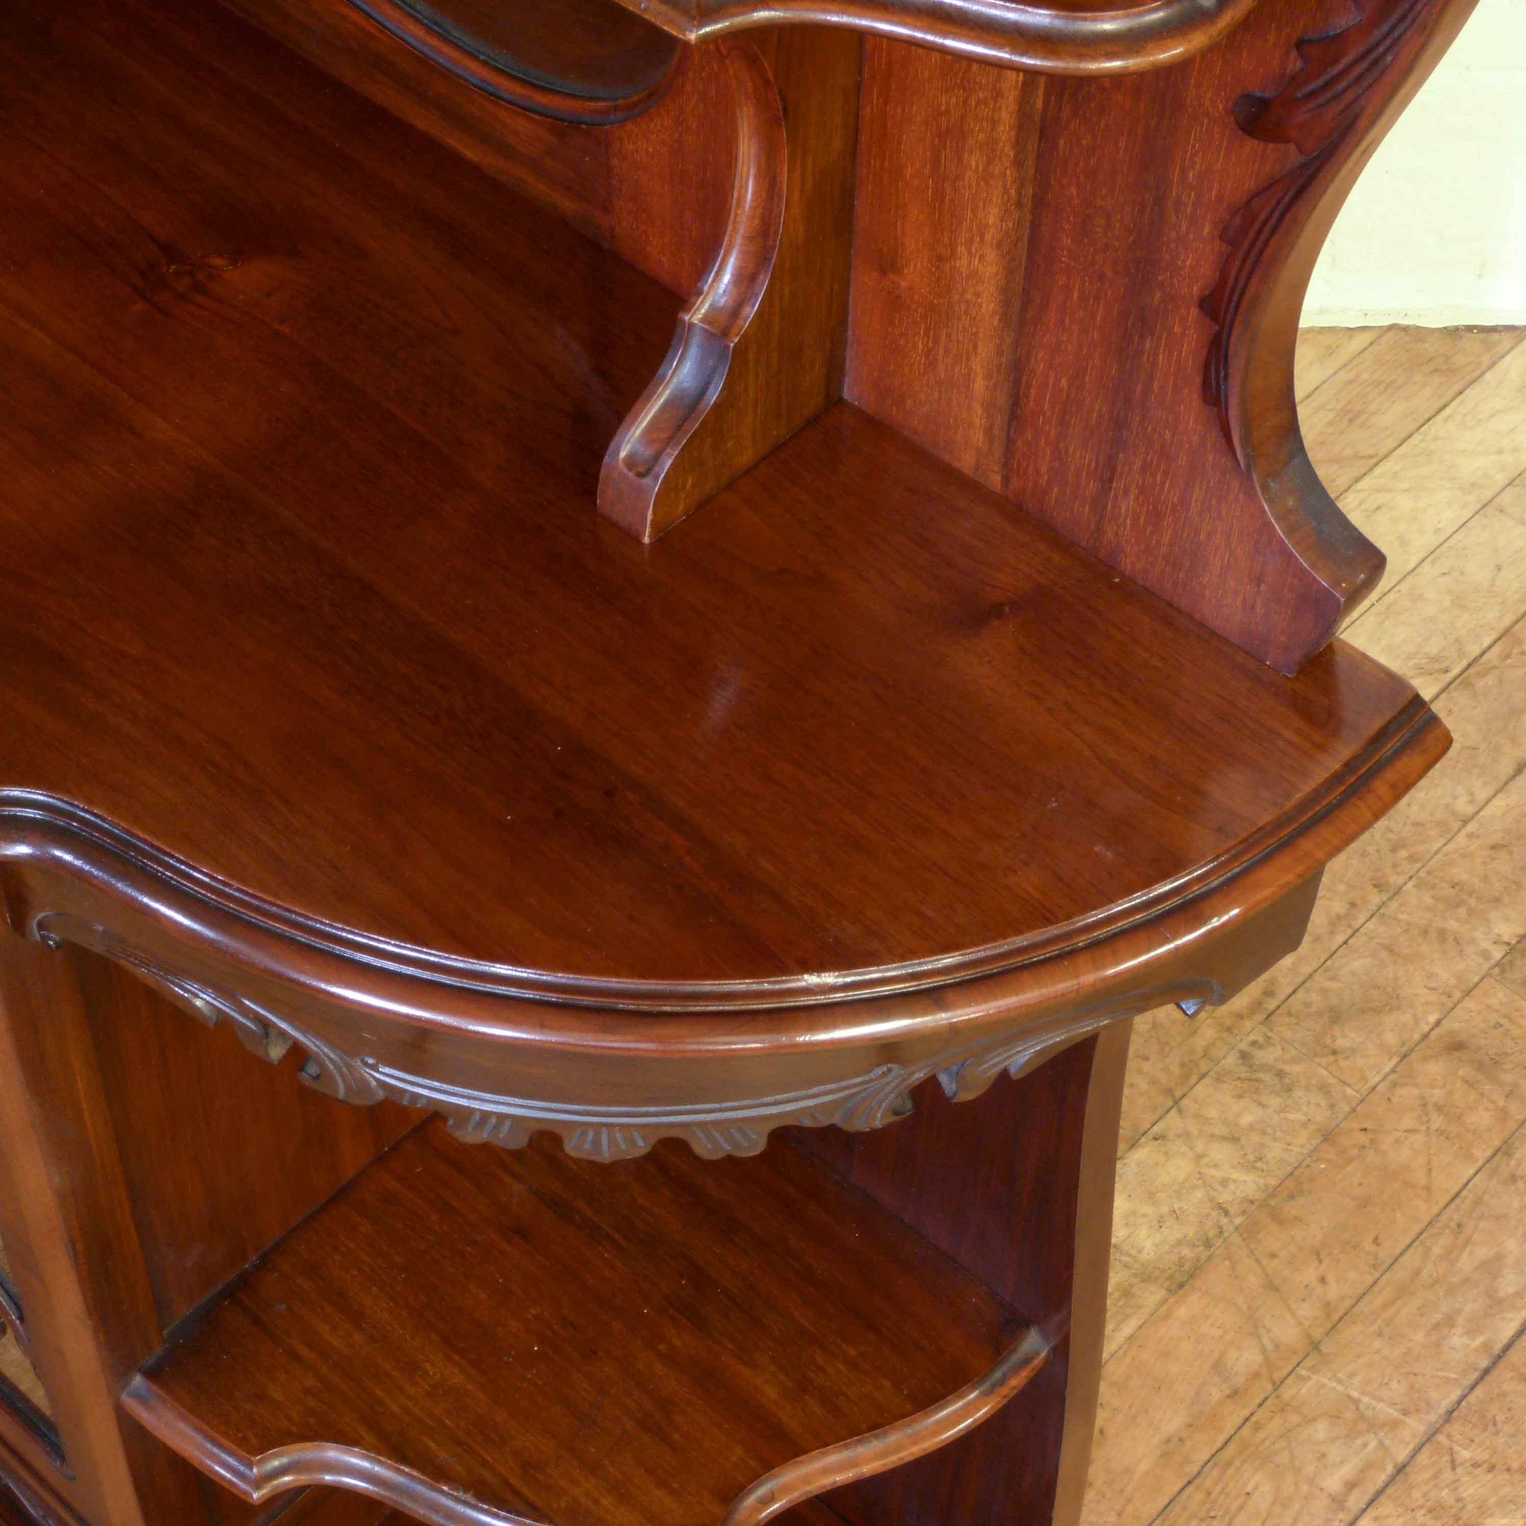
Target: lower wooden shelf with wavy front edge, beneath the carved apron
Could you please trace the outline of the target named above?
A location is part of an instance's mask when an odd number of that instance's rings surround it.
[[[600,1166],[430,1123],[124,1404],[250,1500],[337,1483],[439,1526],[745,1526],[963,1433],[1047,1352],[789,1144]]]

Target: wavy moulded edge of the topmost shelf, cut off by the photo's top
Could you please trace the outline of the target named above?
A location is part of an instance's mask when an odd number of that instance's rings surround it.
[[[700,43],[749,26],[850,26],[1042,73],[1158,69],[1236,27],[1256,0],[1146,0],[1077,11],[1022,0],[621,0]]]

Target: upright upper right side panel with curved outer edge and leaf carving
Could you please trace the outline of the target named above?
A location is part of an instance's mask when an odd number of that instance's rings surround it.
[[[1360,0],[1352,27],[1346,0],[1264,0],[1198,58],[1105,79],[873,41],[848,397],[1297,668],[1383,571],[1297,435],[1311,249],[1466,8]],[[1346,41],[1299,85],[1325,137],[1253,136],[1245,98],[1282,92],[1325,32]],[[1204,310],[1227,266],[1235,345]]]

